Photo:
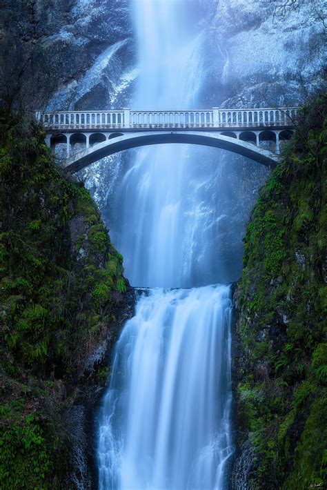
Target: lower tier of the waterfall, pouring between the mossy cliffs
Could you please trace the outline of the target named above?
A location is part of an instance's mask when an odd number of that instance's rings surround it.
[[[100,490],[220,490],[230,437],[229,286],[144,291],[99,413]]]

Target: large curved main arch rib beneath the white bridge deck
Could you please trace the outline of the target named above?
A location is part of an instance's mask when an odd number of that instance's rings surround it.
[[[235,134],[235,133],[234,133]],[[97,145],[86,148],[76,155],[66,159],[64,166],[71,173],[98,161],[130,148],[149,146],[154,144],[197,144],[201,146],[212,146],[223,150],[243,155],[249,159],[258,161],[260,164],[274,168],[278,162],[278,156],[269,150],[254,146],[248,141],[235,137],[226,136],[221,133],[210,133],[206,131],[144,131],[142,133],[127,133],[115,138],[107,139]]]

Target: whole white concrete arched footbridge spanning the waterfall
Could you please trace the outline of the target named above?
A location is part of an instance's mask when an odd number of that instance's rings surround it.
[[[46,144],[65,146],[71,173],[122,150],[187,143],[222,148],[274,168],[297,108],[37,112]]]

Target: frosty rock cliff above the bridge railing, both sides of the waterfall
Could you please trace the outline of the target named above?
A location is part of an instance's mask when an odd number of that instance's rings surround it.
[[[278,3],[277,3],[278,4]],[[324,64],[324,1],[197,0],[190,21],[206,106],[299,104]],[[137,43],[129,0],[4,0],[1,96],[51,108],[118,108],[133,95]]]

